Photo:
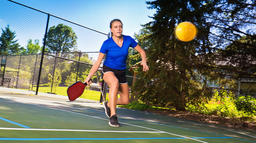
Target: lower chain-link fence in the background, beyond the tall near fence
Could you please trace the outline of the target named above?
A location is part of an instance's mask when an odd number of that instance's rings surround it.
[[[70,59],[65,58],[67,56]],[[9,92],[14,89],[36,91],[38,87],[39,93],[67,95],[68,86],[76,81],[83,81],[88,75],[92,64],[85,63],[83,59],[87,58],[84,57],[87,57],[87,53],[46,53],[39,72],[41,54],[0,56],[0,85],[7,87],[4,90]],[[98,80],[102,82],[100,71],[99,69]],[[41,78],[38,85],[39,76]],[[100,84],[97,78],[94,79],[94,83],[85,90],[88,90],[85,98],[99,101]]]

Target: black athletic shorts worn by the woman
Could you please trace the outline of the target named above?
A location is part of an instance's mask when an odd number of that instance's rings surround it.
[[[103,72],[103,74],[105,74],[107,72],[113,72],[116,75],[116,77],[119,81],[119,84],[128,83],[127,79],[126,79],[126,74],[125,74],[126,70],[116,70],[116,69],[109,68],[109,67],[103,65],[102,72]]]

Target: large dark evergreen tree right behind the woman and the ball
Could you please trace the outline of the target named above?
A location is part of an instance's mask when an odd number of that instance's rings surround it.
[[[148,43],[146,52],[150,71],[146,75],[139,73],[140,79],[133,88],[144,102],[149,101],[160,107],[171,104],[184,110],[186,99],[190,99],[187,96],[194,95],[200,99],[201,95],[207,96],[204,93],[208,92],[191,82],[192,71],[198,64],[203,66],[195,56],[198,54],[196,50],[202,45],[193,41],[178,41],[174,34],[175,25],[181,21],[204,22],[202,11],[199,10],[202,5],[200,2],[190,3],[188,7],[183,1],[168,0],[146,3],[156,9],[156,14],[152,17],[154,21],[144,25],[147,30],[143,30],[137,37],[141,43]],[[187,14],[188,11],[190,14]],[[141,69],[138,71],[141,72]]]

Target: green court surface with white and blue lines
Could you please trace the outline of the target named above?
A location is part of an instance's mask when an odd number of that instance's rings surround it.
[[[100,103],[0,93],[0,143],[256,143],[256,131],[117,108],[108,125]]]

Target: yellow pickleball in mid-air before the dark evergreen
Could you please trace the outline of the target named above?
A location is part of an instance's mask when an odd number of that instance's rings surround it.
[[[190,22],[181,22],[176,27],[176,36],[179,40],[188,42],[195,38],[197,30],[196,26]]]

